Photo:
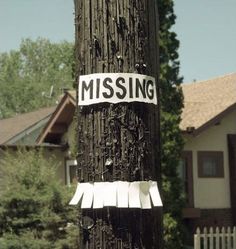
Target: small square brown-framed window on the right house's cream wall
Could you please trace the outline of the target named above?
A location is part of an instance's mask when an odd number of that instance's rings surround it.
[[[224,177],[222,151],[198,151],[199,177]]]

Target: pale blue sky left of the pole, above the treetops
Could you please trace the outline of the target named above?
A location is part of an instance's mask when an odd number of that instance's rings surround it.
[[[73,0],[0,0],[0,52],[38,37],[74,41]]]

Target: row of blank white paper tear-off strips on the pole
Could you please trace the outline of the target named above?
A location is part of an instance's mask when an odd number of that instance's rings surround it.
[[[87,208],[141,208],[161,207],[162,201],[155,181],[78,183],[70,205]]]

